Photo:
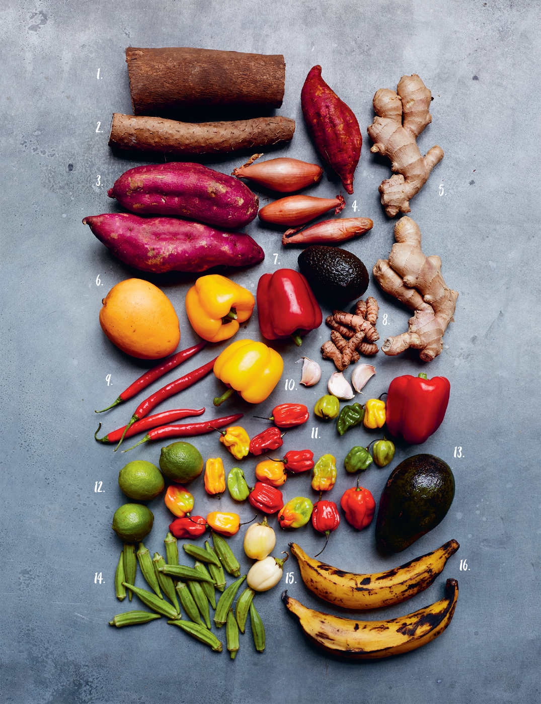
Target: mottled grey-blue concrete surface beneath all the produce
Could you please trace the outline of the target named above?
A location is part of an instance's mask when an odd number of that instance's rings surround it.
[[[0,3],[2,701],[540,700],[540,14],[536,4],[501,0]],[[257,597],[266,624],[262,655],[254,650],[249,630],[231,661],[227,652],[211,653],[170,629],[165,620],[133,629],[107,625],[114,614],[129,608],[116,601],[113,588],[121,544],[111,519],[125,503],[118,470],[127,458],[157,463],[159,455],[156,444],[130,455],[113,454],[92,437],[94,409],[113,401],[147,366],[110,344],[98,321],[101,298],[114,284],[145,275],[113,258],[81,224],[85,215],[114,210],[106,189],[128,168],[146,163],[144,157],[136,162],[113,155],[107,146],[111,113],[130,112],[124,62],[130,44],[284,54],[286,91],[278,113],[295,118],[297,131],[276,155],[307,161],[318,161],[318,156],[302,120],[299,93],[306,73],[320,63],[324,79],[354,109],[365,140],[355,193],[347,196],[342,215],[353,215],[356,201],[357,214],[374,221],[371,232],[345,245],[369,270],[393,241],[393,223],[378,198],[378,184],[390,168],[386,160],[371,155],[366,135],[373,94],[380,87],[396,87],[406,73],[421,75],[433,93],[433,123],[418,143],[423,153],[440,144],[445,156],[413,199],[411,215],[423,232],[424,251],[442,258],[444,277],[460,295],[444,353],[426,369],[429,376],[449,378],[449,409],[422,451],[452,466],[456,496],[444,521],[404,553],[381,557],[373,526],[358,533],[342,517],[322,556],[344,570],[375,572],[457,539],[459,552],[426,593],[366,615],[397,617],[421,608],[441,598],[444,579],[455,577],[460,594],[452,624],[419,650],[373,662],[329,658],[304,640],[283,607],[283,583]],[[210,165],[228,173],[244,156]],[[339,191],[337,178],[327,173],[311,193],[334,196]],[[263,192],[260,196],[262,203],[269,197]],[[232,273],[235,281],[255,290],[263,272],[278,265],[296,267],[299,251],[284,251],[276,230],[252,222],[246,231],[263,246],[266,259]],[[194,277],[149,279],[173,301],[180,318],[180,347],[189,346],[197,337],[183,301]],[[380,300],[380,334],[406,328],[407,311],[380,294],[372,279],[368,294]],[[259,339],[255,316],[242,335]],[[318,349],[327,337],[325,326],[312,332],[302,353],[319,359]],[[284,357],[284,375],[256,412],[266,415],[285,401],[312,407],[325,393],[332,365],[323,364],[318,386],[304,389],[299,386],[300,365],[294,365],[299,351],[287,343],[274,346]],[[215,354],[209,346],[185,369]],[[374,396],[393,377],[424,368],[415,354],[384,358],[379,353],[375,365],[378,373],[367,386]],[[294,379],[294,391],[285,390],[285,379]],[[160,386],[156,382],[151,389]],[[220,383],[207,377],[185,392],[181,405],[204,399],[204,417],[216,417],[211,398],[218,389]],[[123,425],[136,401],[104,413],[100,420],[105,429]],[[161,408],[177,404],[173,398]],[[228,408],[245,414],[250,434],[265,427],[252,417],[249,404],[231,399]],[[319,439],[313,440],[311,428],[316,425]],[[329,498],[338,501],[353,483],[342,460],[352,445],[369,439],[363,431],[338,438],[332,425],[312,417],[288,432],[284,450],[309,447],[316,455],[335,453],[339,474]],[[233,466],[216,436],[194,444],[205,459],[220,455],[226,467]],[[456,447],[462,448],[461,458],[454,457]],[[390,469],[416,451],[397,444],[390,467],[363,474],[362,483],[376,500]],[[244,460],[249,479],[253,466],[253,460]],[[94,491],[96,482],[103,482],[100,493]],[[283,489],[285,498],[316,498],[304,475],[290,477]],[[206,515],[216,508],[202,480],[190,490],[196,513]],[[162,551],[170,514],[161,498],[149,505],[156,520],[145,543],[151,552]],[[220,505],[232,508],[232,501],[226,495]],[[249,505],[241,505],[239,513],[246,520],[253,515]],[[278,532],[275,554],[292,539],[309,554],[322,541],[310,525],[294,534]],[[231,544],[246,570],[242,533]],[[464,559],[466,572],[459,570]],[[100,572],[104,581],[94,584]],[[287,585],[291,596],[325,610],[304,588],[294,559],[286,563],[286,572],[294,575],[294,584]],[[140,584],[140,575],[138,579]],[[132,608],[139,608],[135,598]]]

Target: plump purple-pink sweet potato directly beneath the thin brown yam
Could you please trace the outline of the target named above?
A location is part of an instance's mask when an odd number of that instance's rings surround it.
[[[236,230],[257,215],[258,197],[246,184],[201,164],[136,166],[107,191],[137,215],[173,215]]]

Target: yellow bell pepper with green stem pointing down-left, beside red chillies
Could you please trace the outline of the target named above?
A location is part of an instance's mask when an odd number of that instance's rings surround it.
[[[216,377],[231,387],[214,399],[214,406],[220,406],[235,391],[249,403],[265,401],[283,370],[284,363],[278,352],[263,342],[235,340],[214,363]]]

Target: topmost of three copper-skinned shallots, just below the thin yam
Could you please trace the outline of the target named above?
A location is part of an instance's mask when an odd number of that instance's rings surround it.
[[[260,186],[280,193],[299,191],[301,188],[317,183],[323,175],[321,166],[289,157],[254,164],[253,162],[260,156],[263,154],[254,154],[244,166],[233,170],[231,175],[247,178]]]

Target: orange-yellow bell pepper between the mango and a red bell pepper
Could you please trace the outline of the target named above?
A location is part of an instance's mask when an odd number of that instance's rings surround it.
[[[195,332],[209,342],[233,337],[255,305],[255,298],[248,289],[220,274],[199,277],[186,294],[189,322]]]

